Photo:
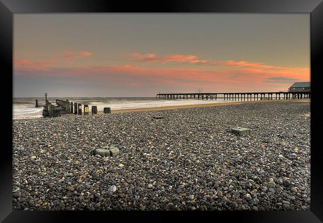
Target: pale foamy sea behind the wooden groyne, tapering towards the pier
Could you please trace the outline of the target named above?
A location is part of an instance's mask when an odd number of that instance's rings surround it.
[[[45,104],[44,97],[14,97],[12,98],[12,119],[30,119],[42,118],[43,107],[35,107],[36,99],[38,105]],[[111,110],[132,109],[132,108],[150,108],[164,106],[194,105],[194,104],[213,104],[227,101],[223,98],[217,100],[197,100],[197,99],[156,99],[156,97],[69,97],[69,98],[51,98],[47,99],[56,105],[56,99],[66,100],[70,102],[81,103],[82,107],[87,104],[89,109],[92,105],[97,106],[98,111],[103,111],[104,107],[110,107]]]

